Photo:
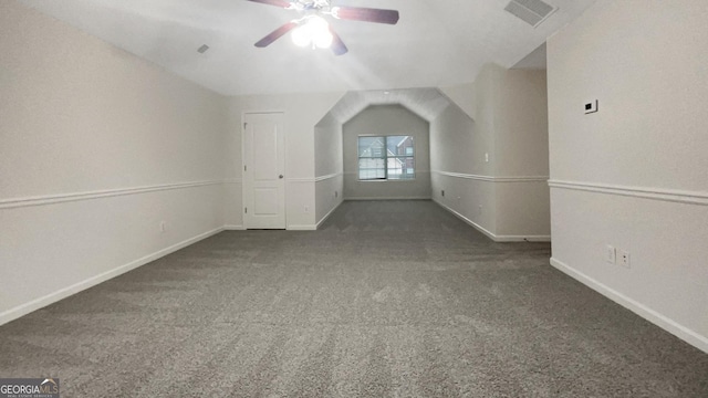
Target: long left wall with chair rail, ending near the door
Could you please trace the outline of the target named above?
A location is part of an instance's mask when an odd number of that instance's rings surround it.
[[[0,53],[0,324],[223,227],[222,96],[14,1]]]

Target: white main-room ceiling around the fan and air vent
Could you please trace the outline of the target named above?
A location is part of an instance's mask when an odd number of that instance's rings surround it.
[[[514,66],[596,0],[546,0],[560,9],[535,29],[503,10],[509,0],[333,0],[400,12],[397,25],[332,20],[350,49],[342,56],[288,36],[257,49],[298,13],[246,0],[20,1],[205,87],[241,95],[470,83],[485,63]]]

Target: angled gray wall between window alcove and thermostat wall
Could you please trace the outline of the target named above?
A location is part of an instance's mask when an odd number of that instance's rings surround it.
[[[446,88],[468,109],[430,122],[433,199],[497,241],[550,240],[545,87],[544,71],[487,64]]]

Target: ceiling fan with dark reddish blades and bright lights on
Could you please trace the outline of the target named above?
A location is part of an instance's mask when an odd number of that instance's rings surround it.
[[[292,40],[298,45],[313,48],[331,48],[335,55],[345,54],[348,49],[342,39],[323,18],[330,15],[335,19],[396,24],[398,11],[362,7],[332,7],[331,0],[248,0],[252,2],[275,6],[288,10],[299,11],[303,17],[294,19],[275,29],[263,39],[256,42],[257,48],[270,45],[285,33],[292,32]]]

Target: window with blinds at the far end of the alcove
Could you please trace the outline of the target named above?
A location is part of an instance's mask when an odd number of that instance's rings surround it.
[[[360,136],[360,180],[410,180],[415,178],[412,136]]]

